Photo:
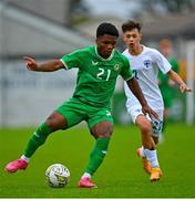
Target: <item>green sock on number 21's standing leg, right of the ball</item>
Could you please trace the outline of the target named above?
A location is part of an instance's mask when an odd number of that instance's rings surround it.
[[[93,151],[90,155],[90,160],[86,166],[85,172],[93,175],[96,171],[96,169],[100,167],[105,157],[109,142],[110,137],[96,139],[96,144]]]

